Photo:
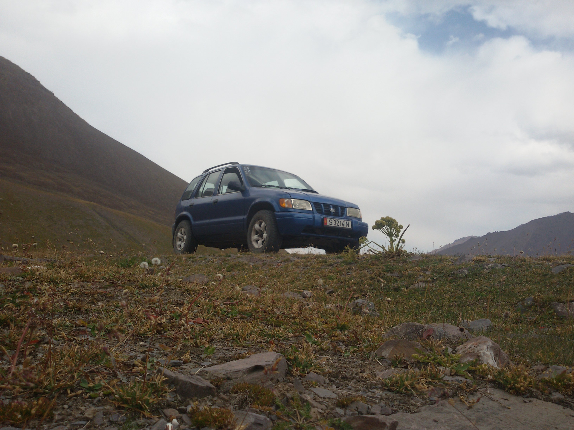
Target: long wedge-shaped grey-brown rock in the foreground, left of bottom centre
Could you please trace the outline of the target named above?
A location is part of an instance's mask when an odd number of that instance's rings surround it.
[[[287,361],[279,353],[267,352],[249,355],[235,361],[211,366],[198,372],[208,379],[223,378],[220,388],[228,391],[238,382],[266,385],[285,377]]]

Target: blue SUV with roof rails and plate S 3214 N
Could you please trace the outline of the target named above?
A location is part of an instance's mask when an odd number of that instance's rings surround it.
[[[253,253],[305,245],[340,252],[357,248],[368,231],[357,205],[321,196],[291,173],[231,162],[189,183],[172,238],[176,254],[193,253],[199,244]]]

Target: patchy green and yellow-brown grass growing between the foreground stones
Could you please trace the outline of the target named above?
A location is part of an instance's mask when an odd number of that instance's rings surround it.
[[[34,252],[56,257],[48,249]],[[156,267],[153,275],[134,264],[155,256],[145,252],[83,256],[58,250],[55,262],[18,276],[0,274],[4,286],[0,346],[2,355],[10,357],[0,361],[0,389],[26,405],[56,398],[55,407],[60,407],[68,396],[99,395],[120,409],[153,415],[168,397],[161,381],[150,377],[160,358],[187,363],[191,356],[219,357],[222,347],[242,349],[239,355],[234,353],[235,359],[245,357],[244,351],[276,350],[284,353],[290,376],[313,371],[329,377],[337,372],[329,359],[368,363],[384,342],[382,335],[398,323],[461,325],[463,319],[489,318],[492,329],[486,335],[501,345],[516,368],[464,366],[456,354],[447,353],[447,347],[454,349],[456,343],[422,341],[429,353],[406,364],[410,369],[406,367],[404,374],[382,383],[364,375],[362,384],[381,388],[385,384],[401,393],[424,392],[441,384],[437,368],[444,366],[476,384],[494,381],[510,392],[572,394],[571,376],[536,382],[532,369],[574,365],[574,322],[559,318],[550,308],[552,302],[572,299],[574,270],[550,271],[554,265],[572,263],[569,256],[495,257],[496,263],[507,267],[489,268],[486,256],[460,265],[447,256],[410,261],[408,256],[388,260],[349,252],[327,256],[222,252],[162,255],[166,269]],[[13,264],[5,261],[0,267]],[[459,275],[461,268],[468,275]],[[203,273],[209,282],[183,282],[192,273]],[[389,276],[392,273],[398,276]],[[417,282],[429,287],[408,290]],[[261,296],[241,292],[247,285],[260,287]],[[281,296],[302,290],[312,291],[312,299]],[[516,311],[516,304],[530,296],[532,308]],[[346,304],[359,298],[374,302],[380,316],[354,315]],[[234,357],[226,361],[230,359]],[[249,387],[241,393],[262,406],[272,398]],[[292,428],[316,423],[305,412],[305,403],[297,402],[282,412],[289,423],[278,422]],[[10,405],[24,408],[16,402]],[[215,419],[218,413],[224,420],[225,408],[219,409],[197,413],[201,420]],[[18,424],[15,415],[2,416],[7,423]],[[34,413],[26,419],[34,427],[41,417]]]

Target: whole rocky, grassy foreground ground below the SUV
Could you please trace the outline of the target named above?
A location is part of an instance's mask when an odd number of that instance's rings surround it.
[[[4,425],[574,428],[570,260],[145,260],[4,261]]]

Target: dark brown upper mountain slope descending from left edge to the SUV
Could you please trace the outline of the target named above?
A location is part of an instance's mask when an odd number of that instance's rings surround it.
[[[0,57],[0,176],[170,225],[187,185]]]

